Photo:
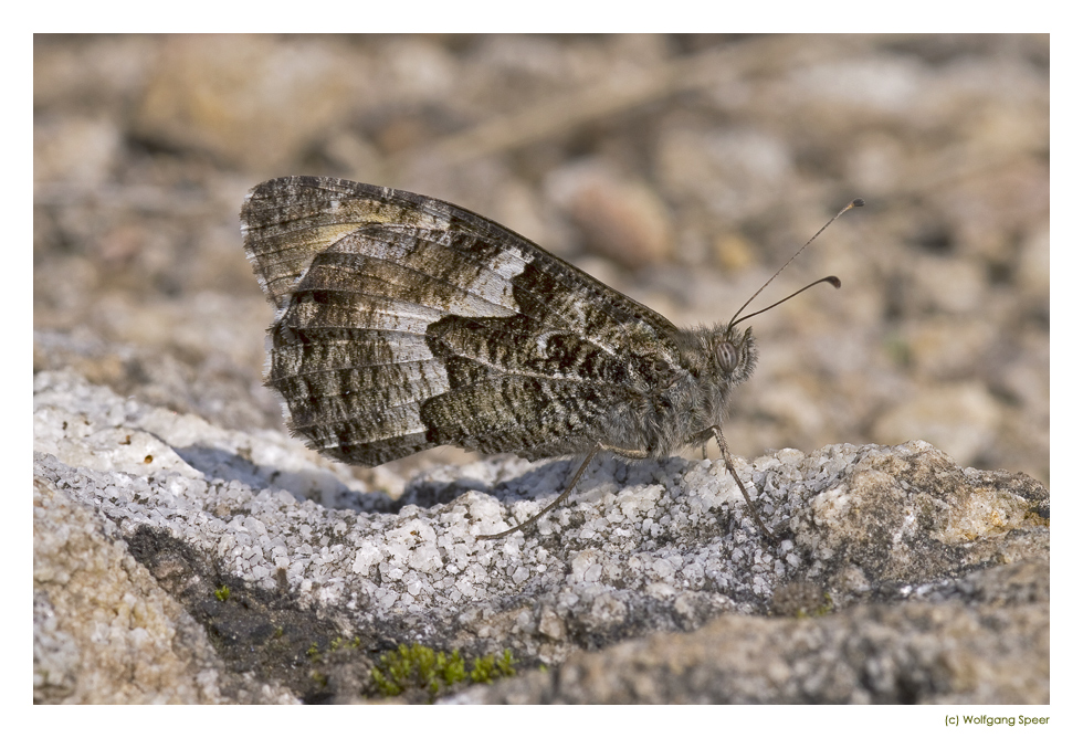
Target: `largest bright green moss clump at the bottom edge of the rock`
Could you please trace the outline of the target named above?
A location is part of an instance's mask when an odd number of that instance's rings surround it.
[[[466,662],[459,650],[450,654],[413,643],[399,644],[397,651],[380,656],[380,664],[372,670],[372,681],[386,697],[395,697],[408,689],[421,689],[434,698],[441,690],[470,679],[471,684],[490,684],[494,678],[514,676],[515,658],[508,649],[497,658],[488,655],[474,658],[466,672]]]

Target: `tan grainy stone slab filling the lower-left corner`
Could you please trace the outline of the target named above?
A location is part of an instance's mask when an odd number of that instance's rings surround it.
[[[227,668],[112,523],[34,477],[34,702],[288,703]]]

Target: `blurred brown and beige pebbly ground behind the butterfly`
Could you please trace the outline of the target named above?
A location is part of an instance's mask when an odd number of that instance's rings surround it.
[[[36,35],[34,371],[282,428],[238,211],[302,173],[450,200],[677,325],[862,197],[754,305],[843,283],[749,321],[732,450],[923,439],[1048,484],[1049,36]]]

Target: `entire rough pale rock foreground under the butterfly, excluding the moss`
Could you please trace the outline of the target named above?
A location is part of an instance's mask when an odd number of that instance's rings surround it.
[[[274,432],[70,372],[34,389],[41,700],[348,702],[371,696],[374,654],[412,641],[553,666],[460,699],[1049,698],[1048,492],[923,442],[738,464],[777,547],[721,463],[683,458],[603,460],[536,533],[480,542],[569,462],[443,467],[392,502]],[[673,631],[694,632],[629,641]],[[353,676],[313,676],[305,652],[335,637],[364,644],[337,664]],[[223,668],[266,686],[223,697]]]

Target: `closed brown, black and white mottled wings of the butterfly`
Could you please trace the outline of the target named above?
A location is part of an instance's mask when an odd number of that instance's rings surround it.
[[[292,177],[253,189],[241,222],[278,308],[269,384],[344,461],[581,451],[677,360],[665,318],[440,200]]]

